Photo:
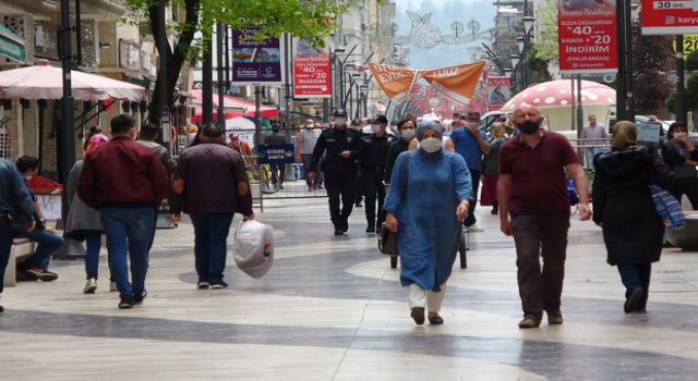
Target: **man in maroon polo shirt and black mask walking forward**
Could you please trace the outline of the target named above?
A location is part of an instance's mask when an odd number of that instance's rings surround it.
[[[550,324],[562,324],[569,201],[567,174],[575,180],[581,220],[591,218],[587,177],[567,138],[541,130],[543,118],[532,107],[514,111],[519,136],[500,148],[500,228],[514,235],[524,319],[519,328],[537,328],[543,311]],[[510,217],[510,220],[509,220]],[[541,271],[540,258],[543,258]]]

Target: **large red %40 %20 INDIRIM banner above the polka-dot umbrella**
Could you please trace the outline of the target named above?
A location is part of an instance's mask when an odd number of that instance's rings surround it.
[[[616,0],[559,0],[557,38],[562,74],[618,71]]]

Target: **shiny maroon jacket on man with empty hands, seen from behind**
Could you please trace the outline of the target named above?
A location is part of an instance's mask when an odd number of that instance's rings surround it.
[[[117,136],[85,156],[77,195],[89,207],[156,206],[169,189],[167,172],[153,151]]]

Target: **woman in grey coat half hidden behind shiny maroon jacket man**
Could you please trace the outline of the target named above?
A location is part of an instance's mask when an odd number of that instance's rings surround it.
[[[85,151],[95,150],[109,140],[95,139]],[[65,236],[72,239],[85,242],[85,274],[86,282],[83,287],[84,294],[94,294],[97,291],[97,279],[99,278],[99,251],[101,250],[101,235],[104,228],[99,221],[99,212],[95,208],[88,207],[80,195],[77,195],[77,181],[83,172],[85,162],[81,159],[75,161],[68,177],[68,201],[70,210],[65,219]],[[113,288],[113,290],[112,290]],[[117,291],[117,285],[110,276],[109,291]]]

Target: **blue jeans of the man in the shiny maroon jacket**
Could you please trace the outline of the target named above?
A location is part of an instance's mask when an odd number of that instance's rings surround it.
[[[99,220],[107,236],[109,270],[122,296],[141,295],[145,291],[148,245],[155,229],[153,213],[155,209],[152,207],[99,209]],[[127,250],[133,285],[129,282]]]

